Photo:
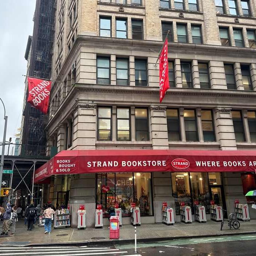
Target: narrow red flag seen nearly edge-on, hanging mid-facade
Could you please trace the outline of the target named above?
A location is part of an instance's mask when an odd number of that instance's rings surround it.
[[[160,52],[159,57],[159,92],[160,92],[160,103],[164,99],[166,91],[170,88],[169,86],[169,70],[168,70],[168,40],[164,41],[163,49]]]

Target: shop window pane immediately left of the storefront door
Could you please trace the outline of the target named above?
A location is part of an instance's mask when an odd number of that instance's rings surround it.
[[[191,193],[193,201],[205,206],[206,213],[210,213],[210,192],[207,173],[190,173]]]

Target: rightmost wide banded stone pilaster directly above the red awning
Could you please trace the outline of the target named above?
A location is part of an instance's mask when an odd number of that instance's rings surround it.
[[[215,109],[215,125],[217,132],[217,140],[220,142],[221,150],[236,150],[236,137],[234,133],[231,109],[216,108]]]

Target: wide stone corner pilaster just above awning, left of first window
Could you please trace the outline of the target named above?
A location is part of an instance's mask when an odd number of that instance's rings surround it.
[[[78,104],[74,112],[72,149],[95,149],[96,105]]]

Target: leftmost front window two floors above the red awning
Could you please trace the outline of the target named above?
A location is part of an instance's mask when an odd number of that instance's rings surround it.
[[[110,59],[97,57],[97,84],[110,84]]]

